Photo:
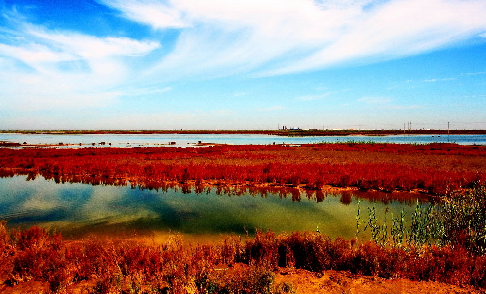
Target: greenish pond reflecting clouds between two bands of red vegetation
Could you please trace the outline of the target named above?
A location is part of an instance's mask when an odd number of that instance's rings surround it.
[[[255,228],[315,232],[317,226],[333,239],[351,239],[356,233],[359,199],[363,220],[374,199],[378,199],[377,216],[382,220],[387,208],[394,215],[404,209],[410,217],[417,197],[350,191],[324,193],[318,199],[299,192],[293,196],[229,196],[217,193],[215,188],[197,194],[191,188],[141,190],[130,186],[56,184],[43,178],[26,181],[26,177],[16,176],[0,178],[0,219],[7,220],[10,227],[51,227],[75,239],[136,231],[139,236],[177,233],[184,239],[211,241],[227,233],[252,234]],[[391,198],[396,200],[383,201]]]

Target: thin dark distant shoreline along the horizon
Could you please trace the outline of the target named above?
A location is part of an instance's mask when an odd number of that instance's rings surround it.
[[[485,129],[381,129],[381,130],[0,130],[23,134],[267,134],[274,136],[386,136],[386,135],[485,135]]]

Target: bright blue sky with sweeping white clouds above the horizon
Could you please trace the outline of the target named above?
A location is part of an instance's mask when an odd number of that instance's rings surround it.
[[[484,0],[0,0],[0,129],[486,129]]]

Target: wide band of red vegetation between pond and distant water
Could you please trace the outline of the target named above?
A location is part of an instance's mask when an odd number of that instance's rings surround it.
[[[486,147],[458,144],[237,145],[207,148],[0,149],[0,176],[56,182],[325,186],[447,194],[483,186]]]

